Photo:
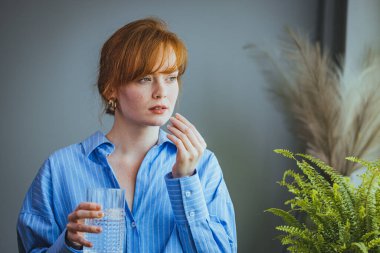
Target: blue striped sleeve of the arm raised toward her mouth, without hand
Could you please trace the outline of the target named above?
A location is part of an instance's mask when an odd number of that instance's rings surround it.
[[[194,175],[165,180],[184,252],[237,252],[234,208],[214,154]]]

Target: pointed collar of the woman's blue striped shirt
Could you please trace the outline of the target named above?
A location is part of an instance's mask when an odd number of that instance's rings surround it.
[[[160,131],[158,133],[158,142],[157,146],[161,146],[164,143],[171,143],[174,145],[174,143],[169,140],[167,137],[167,133],[160,128]],[[95,149],[101,148],[104,149],[104,151],[107,154],[111,154],[113,150],[115,149],[115,146],[107,139],[105,134],[101,131],[97,131],[94,134],[92,134],[90,137],[85,139],[82,142],[84,152],[86,157],[88,157]]]

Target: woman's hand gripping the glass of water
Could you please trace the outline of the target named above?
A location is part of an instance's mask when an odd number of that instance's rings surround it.
[[[84,219],[101,218],[104,216],[100,211],[100,205],[90,202],[82,202],[77,208],[69,214],[67,223],[66,240],[75,247],[92,247],[92,243],[83,238],[83,232],[100,233],[101,228],[96,226],[87,226],[84,224]],[[70,245],[71,246],[71,245]]]

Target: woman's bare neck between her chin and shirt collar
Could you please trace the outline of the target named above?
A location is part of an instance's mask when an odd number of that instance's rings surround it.
[[[136,126],[116,120],[107,138],[114,144],[116,155],[145,154],[158,141],[159,126]]]

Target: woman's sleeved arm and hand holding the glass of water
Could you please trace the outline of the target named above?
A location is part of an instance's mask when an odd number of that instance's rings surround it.
[[[53,210],[60,213],[60,205],[54,203],[52,196],[51,164],[48,159],[30,186],[18,217],[17,240],[20,252],[82,252],[73,246],[91,246],[90,242],[83,239],[83,232],[100,232],[97,227],[84,225],[85,218],[102,215],[99,205],[80,203],[68,215],[65,229],[58,226],[54,217]]]

